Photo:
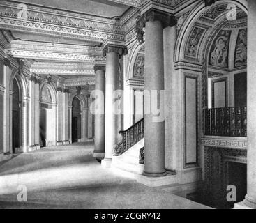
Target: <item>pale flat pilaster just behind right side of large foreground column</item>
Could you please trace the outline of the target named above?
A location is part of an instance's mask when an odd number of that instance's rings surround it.
[[[176,173],[177,154],[179,153],[181,116],[181,84],[177,84],[180,75],[174,71],[174,48],[176,43],[176,27],[163,29],[163,51],[165,70],[165,171]]]

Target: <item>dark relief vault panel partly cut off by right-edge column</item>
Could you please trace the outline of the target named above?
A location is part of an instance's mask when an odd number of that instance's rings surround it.
[[[236,40],[234,53],[234,67],[238,68],[247,64],[247,29],[240,29]]]

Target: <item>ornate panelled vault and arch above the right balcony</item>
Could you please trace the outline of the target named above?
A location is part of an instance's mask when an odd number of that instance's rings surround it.
[[[213,52],[213,45],[216,45],[216,40],[219,38],[220,41],[225,39],[225,45],[227,45],[225,49],[228,57],[225,61],[219,61],[218,63],[214,63],[214,59],[212,59],[209,65],[220,68],[234,68],[232,66],[234,62],[231,59],[236,54],[239,30],[246,29],[247,26],[247,15],[244,9],[241,9],[243,8],[242,6],[229,0],[217,1],[208,8],[205,8],[201,3],[183,15],[183,17],[179,17],[175,51],[176,61],[190,61],[198,65],[208,64],[209,54]],[[231,13],[230,7],[235,7],[236,9],[236,20],[232,20],[234,17],[230,18],[230,15],[234,15]],[[244,33],[245,30],[241,32]],[[221,33],[226,36],[221,38]],[[235,66],[241,66],[241,63]]]

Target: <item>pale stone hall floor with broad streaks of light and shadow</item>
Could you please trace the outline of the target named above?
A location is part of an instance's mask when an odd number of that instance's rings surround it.
[[[77,143],[0,162],[0,208],[208,208],[103,169],[92,153]],[[19,185],[27,202],[17,201]]]

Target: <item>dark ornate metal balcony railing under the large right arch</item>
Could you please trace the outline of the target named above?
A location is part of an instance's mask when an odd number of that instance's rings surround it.
[[[247,107],[205,109],[205,135],[247,137]]]

